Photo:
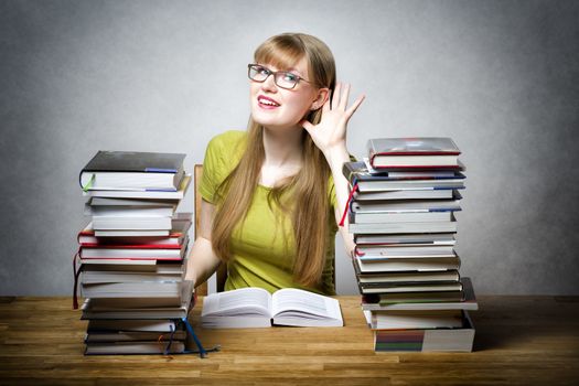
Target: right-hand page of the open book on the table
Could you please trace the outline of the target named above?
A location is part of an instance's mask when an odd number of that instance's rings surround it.
[[[337,300],[294,288],[286,288],[272,296],[272,314],[307,319],[341,319]]]

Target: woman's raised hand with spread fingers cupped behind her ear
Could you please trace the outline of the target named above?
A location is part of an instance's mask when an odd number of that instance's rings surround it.
[[[347,107],[350,96],[350,85],[337,83],[334,93],[323,104],[322,119],[318,125],[312,125],[308,120],[302,120],[300,125],[308,131],[313,143],[329,158],[332,151],[344,151],[346,143],[346,126],[364,100],[365,96],[361,95],[352,106]]]

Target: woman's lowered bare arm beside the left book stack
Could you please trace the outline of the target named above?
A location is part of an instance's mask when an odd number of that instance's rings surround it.
[[[215,205],[203,200],[201,202],[200,234],[195,235],[195,243],[191,248],[187,259],[185,280],[195,282],[195,287],[207,281],[207,279],[219,267],[221,259],[211,246],[211,227]]]

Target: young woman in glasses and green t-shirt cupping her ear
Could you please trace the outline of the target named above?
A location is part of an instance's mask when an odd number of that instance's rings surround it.
[[[224,261],[226,290],[301,288],[335,293],[334,236],[347,201],[350,85],[335,82],[319,39],[285,33],[264,42],[248,65],[247,132],[213,138],[203,163],[200,235],[186,278],[204,282]],[[340,228],[349,251],[347,227]]]

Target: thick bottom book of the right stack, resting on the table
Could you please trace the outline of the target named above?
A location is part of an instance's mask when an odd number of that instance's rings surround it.
[[[376,352],[471,352],[474,325],[463,311],[459,329],[374,330]]]

